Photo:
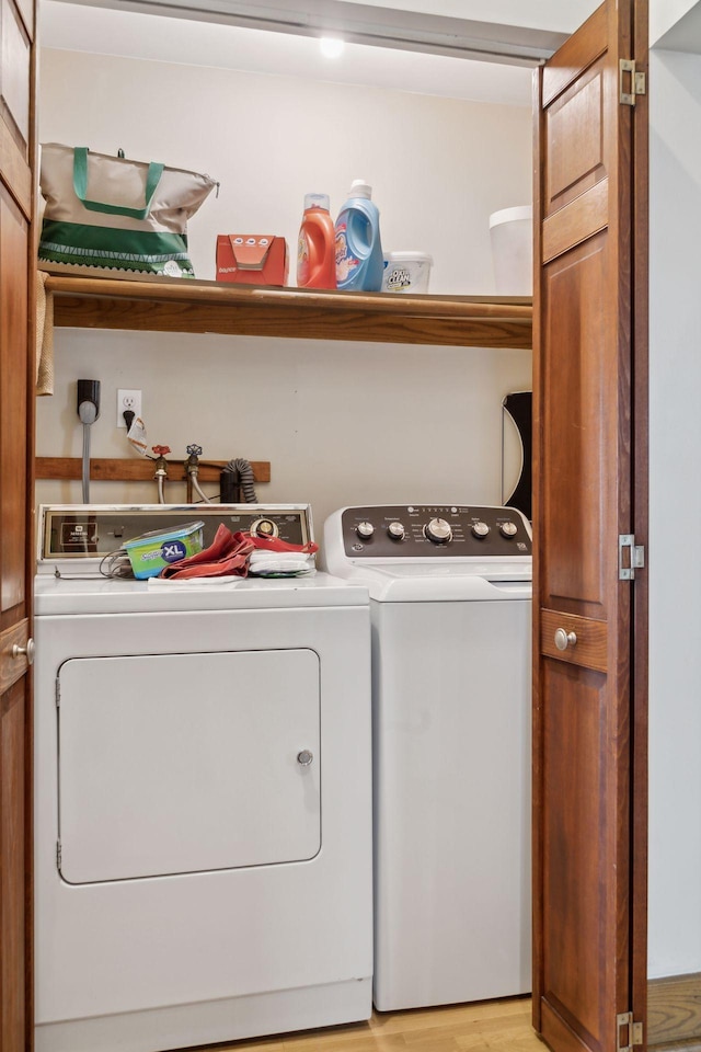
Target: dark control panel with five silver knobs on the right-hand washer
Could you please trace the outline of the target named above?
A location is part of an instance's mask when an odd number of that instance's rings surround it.
[[[344,508],[341,523],[354,560],[531,554],[530,526],[514,507],[377,504]]]

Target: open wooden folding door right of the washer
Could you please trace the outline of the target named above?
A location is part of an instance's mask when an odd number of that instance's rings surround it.
[[[619,570],[645,529],[642,15],[607,0],[536,75],[533,1019],[567,1052],[644,1013],[645,584]]]

